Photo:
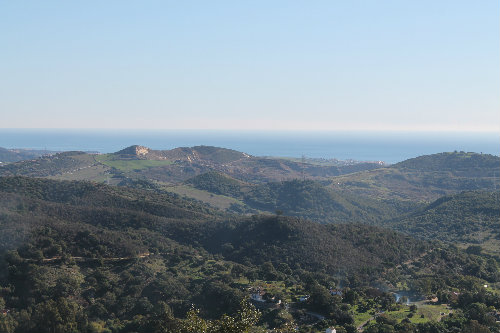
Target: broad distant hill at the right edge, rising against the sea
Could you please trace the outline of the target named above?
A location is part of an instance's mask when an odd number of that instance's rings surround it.
[[[494,190],[499,177],[500,157],[453,152],[334,177],[330,187],[375,198],[429,202],[462,191]]]

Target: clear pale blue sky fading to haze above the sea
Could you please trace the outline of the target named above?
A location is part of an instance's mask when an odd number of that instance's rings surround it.
[[[0,0],[0,127],[500,131],[499,12]]]

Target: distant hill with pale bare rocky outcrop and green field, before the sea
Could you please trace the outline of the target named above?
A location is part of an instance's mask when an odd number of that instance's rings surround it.
[[[179,184],[207,172],[219,172],[251,183],[301,177],[324,180],[331,176],[381,166],[378,163],[320,165],[283,158],[254,157],[211,146],[180,147],[171,150],[131,146],[114,154],[99,156],[97,160],[125,172],[122,175],[124,177],[146,178],[164,184]],[[146,163],[146,160],[150,163]],[[153,161],[155,162],[152,163]]]

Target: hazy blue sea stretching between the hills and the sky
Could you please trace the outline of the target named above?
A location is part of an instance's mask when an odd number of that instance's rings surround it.
[[[255,156],[396,163],[445,151],[500,155],[500,133],[0,129],[0,147],[115,152],[209,145]]]

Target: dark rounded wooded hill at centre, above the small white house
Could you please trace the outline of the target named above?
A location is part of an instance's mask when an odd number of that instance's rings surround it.
[[[377,227],[321,225],[280,216],[209,224],[202,229],[204,247],[229,260],[254,265],[286,263],[292,269],[338,275],[381,271],[384,263],[404,262],[429,246]]]

